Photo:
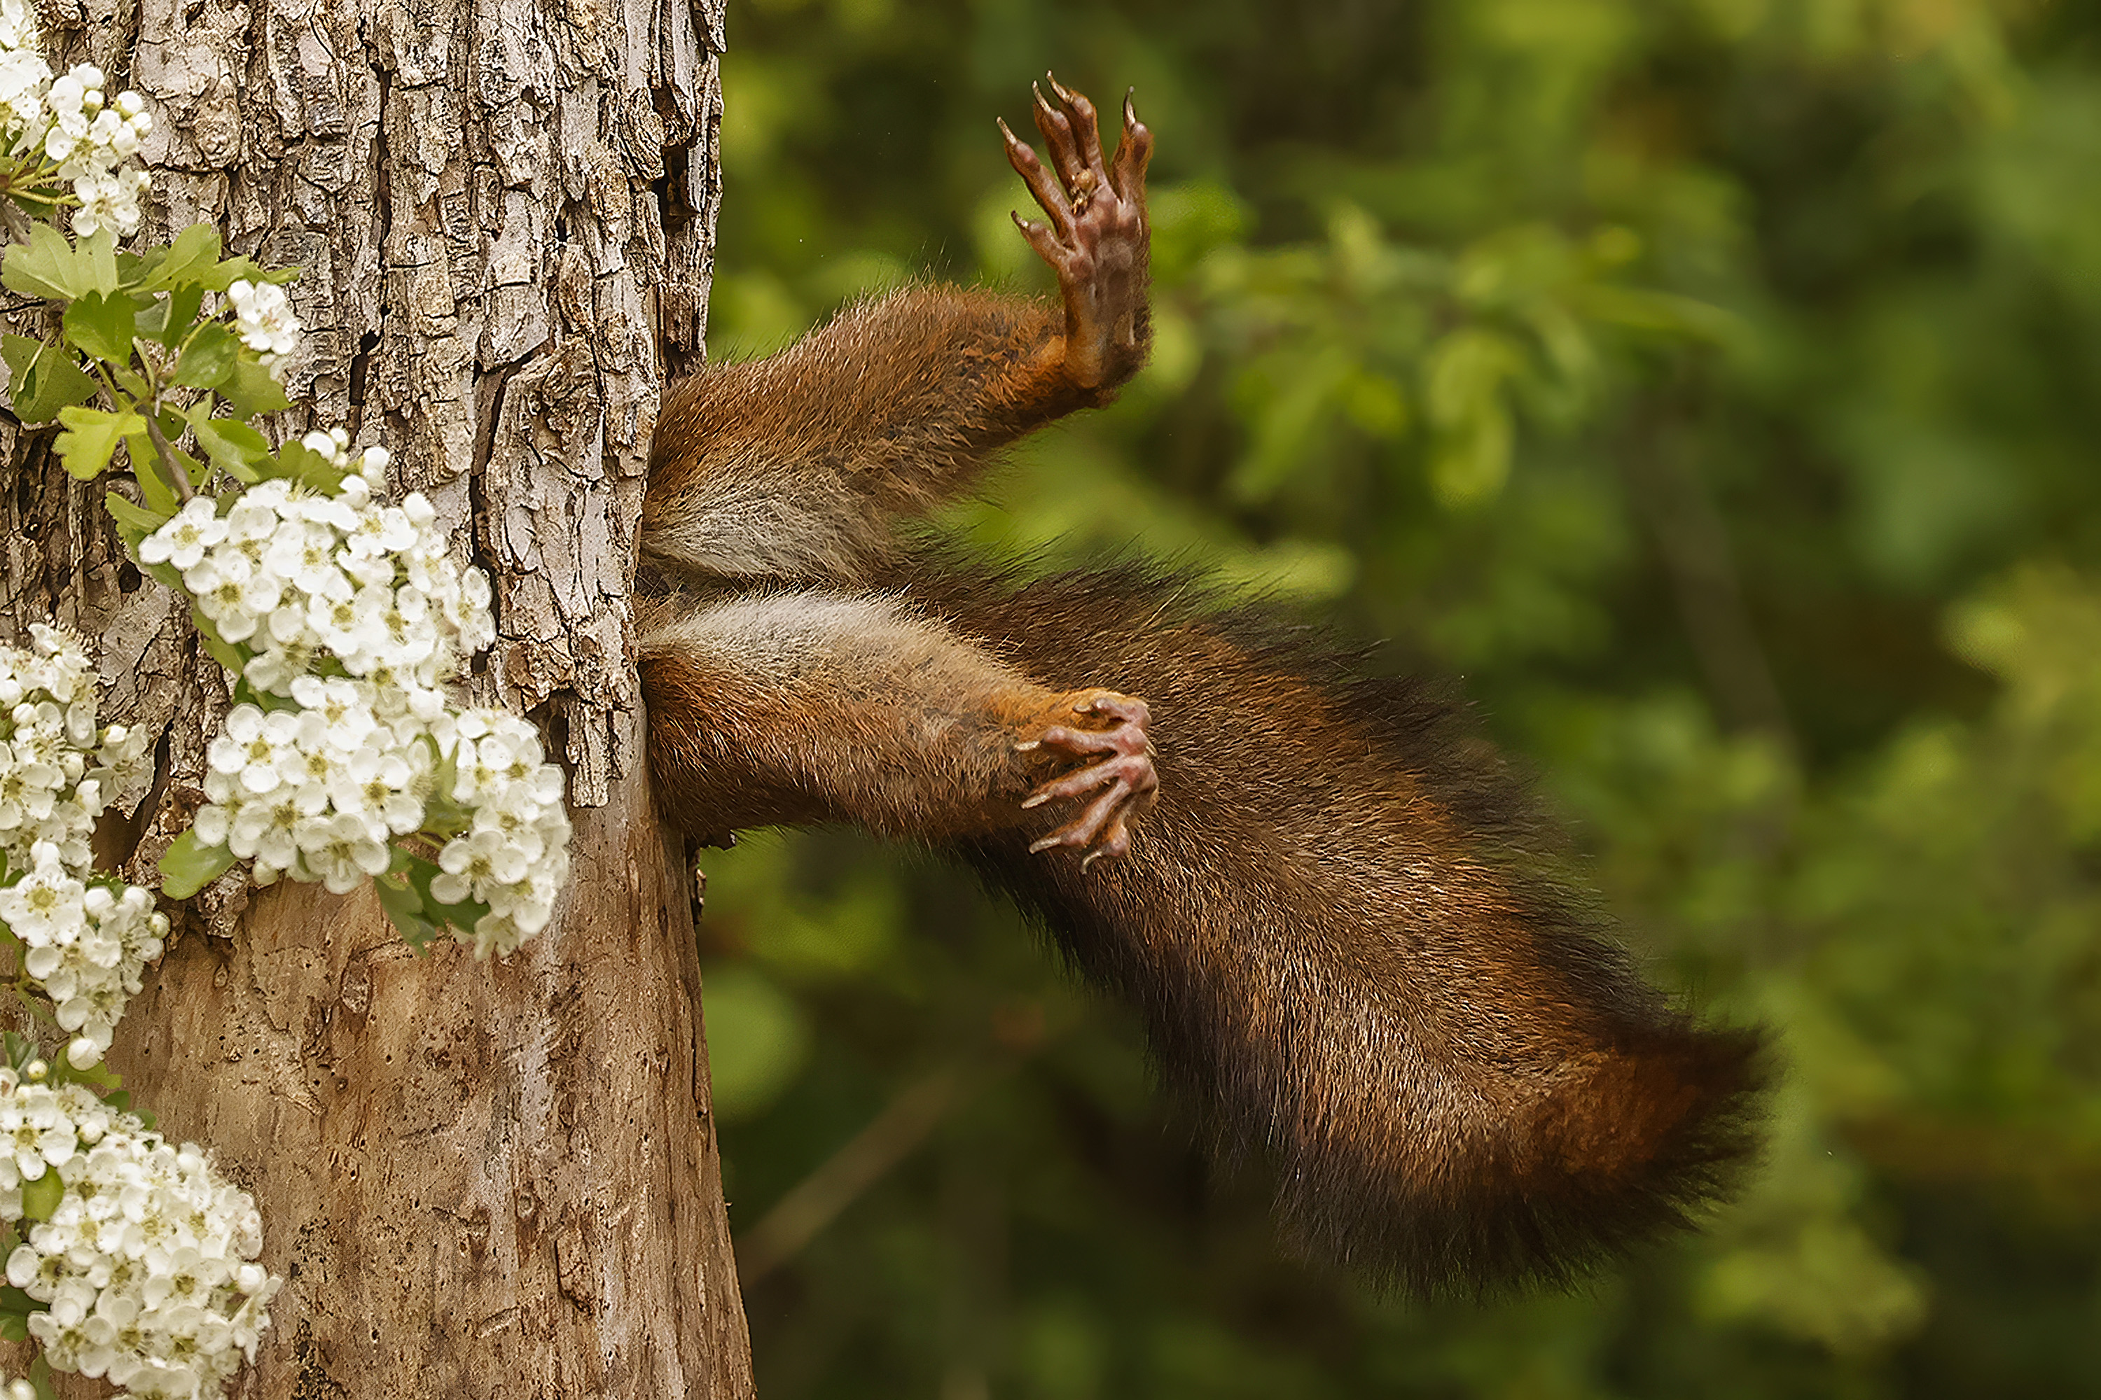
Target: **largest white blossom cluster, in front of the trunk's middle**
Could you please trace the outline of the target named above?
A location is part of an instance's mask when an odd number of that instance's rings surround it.
[[[252,653],[248,684],[284,701],[227,716],[197,840],[254,861],[263,884],[290,875],[342,894],[387,873],[393,837],[431,831],[448,837],[433,898],[487,905],[475,951],[511,953],[553,915],[569,819],[532,724],[456,712],[445,695],[460,659],[496,640],[490,584],[445,556],[420,493],[372,495],[384,449],[353,464],[340,430],[305,445],[351,470],[340,495],[265,481],[225,514],[197,497],[139,546]],[[433,804],[452,825],[433,827]]]

